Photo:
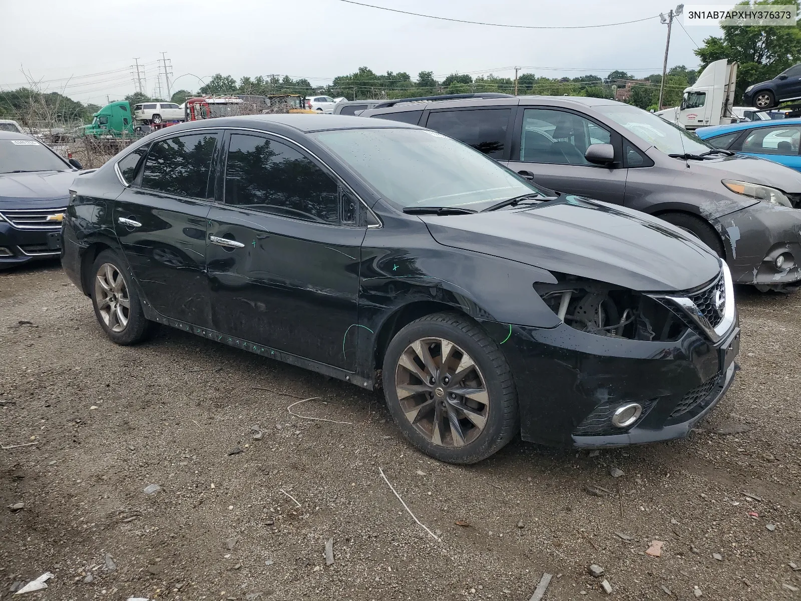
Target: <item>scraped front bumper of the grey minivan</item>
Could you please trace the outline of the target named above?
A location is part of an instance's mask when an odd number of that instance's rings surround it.
[[[711,223],[723,238],[735,283],[778,287],[801,282],[801,210],[761,202]],[[778,269],[774,261],[785,252],[795,265]]]

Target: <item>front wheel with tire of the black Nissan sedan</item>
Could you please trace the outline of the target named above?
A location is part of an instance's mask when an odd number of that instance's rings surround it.
[[[396,333],[384,356],[384,396],[409,442],[443,462],[479,462],[519,430],[509,365],[461,314],[434,313]]]

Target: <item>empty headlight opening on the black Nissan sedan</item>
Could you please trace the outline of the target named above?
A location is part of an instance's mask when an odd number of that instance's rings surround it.
[[[533,284],[560,320],[596,336],[643,341],[675,341],[685,321],[664,305],[628,288],[565,274],[558,284]]]

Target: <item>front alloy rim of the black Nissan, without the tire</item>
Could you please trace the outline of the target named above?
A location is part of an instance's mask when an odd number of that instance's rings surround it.
[[[406,347],[395,390],[406,419],[435,445],[468,445],[486,426],[489,393],[481,369],[445,338],[421,338]]]

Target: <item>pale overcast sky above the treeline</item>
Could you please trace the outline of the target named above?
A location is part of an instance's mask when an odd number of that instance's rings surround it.
[[[0,0],[0,90],[41,81],[84,103],[104,104],[135,91],[139,59],[153,95],[162,52],[171,91],[196,91],[215,73],[290,75],[324,86],[359,67],[376,73],[433,71],[513,77],[607,75],[616,69],[644,77],[662,71],[667,27],[657,15],[668,0],[364,0],[441,17],[528,26],[589,29],[511,29],[437,21],[341,0]],[[731,6],[733,2],[714,2]],[[35,18],[32,18],[32,15]],[[683,17],[679,17],[681,21]],[[668,67],[698,67],[693,54],[717,27],[674,23]],[[691,38],[690,38],[691,37]],[[24,75],[23,75],[24,71]],[[161,85],[165,87],[163,75]],[[165,94],[166,95],[166,94]]]

